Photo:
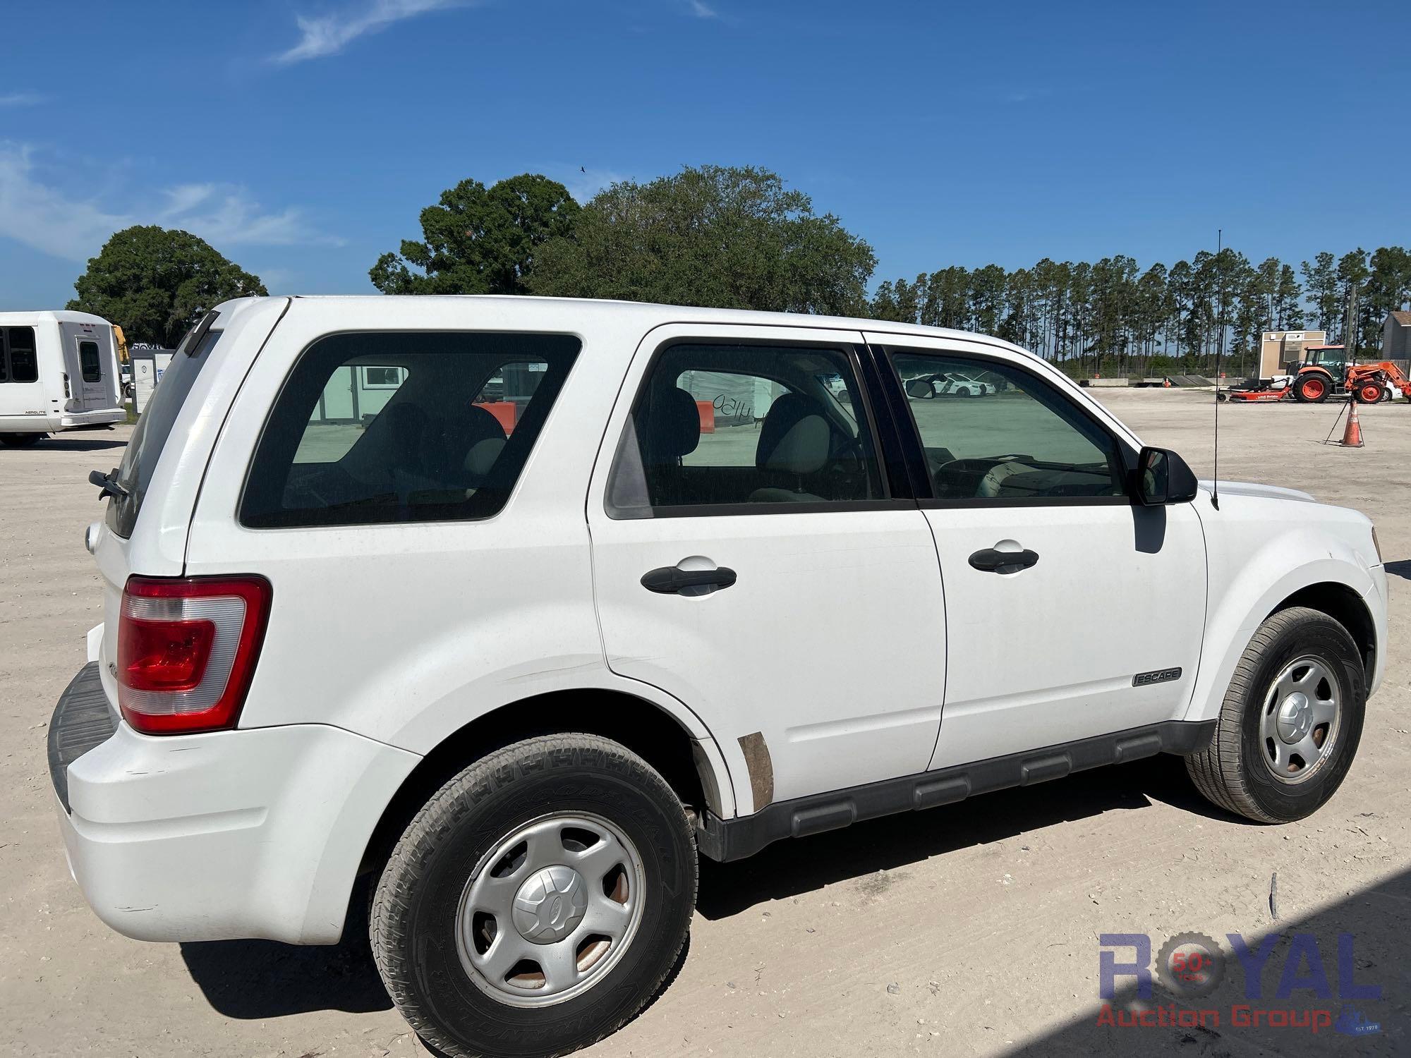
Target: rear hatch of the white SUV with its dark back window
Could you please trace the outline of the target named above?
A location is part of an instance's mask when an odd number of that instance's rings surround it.
[[[286,298],[247,299],[207,313],[182,339],[111,471],[121,495],[106,501],[93,557],[103,577],[99,670],[114,710],[123,588],[133,574],[179,577],[185,571],[186,533],[216,437],[288,303]]]

